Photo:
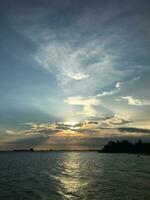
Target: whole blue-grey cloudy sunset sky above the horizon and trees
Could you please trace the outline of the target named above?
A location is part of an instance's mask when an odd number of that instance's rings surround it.
[[[0,149],[150,140],[149,0],[0,1]]]

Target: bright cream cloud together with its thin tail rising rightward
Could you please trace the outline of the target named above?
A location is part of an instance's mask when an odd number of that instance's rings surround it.
[[[114,89],[110,91],[103,91],[101,93],[98,93],[93,96],[83,97],[83,96],[73,96],[68,97],[66,100],[64,100],[65,103],[69,105],[75,105],[75,106],[82,106],[82,110],[76,112],[76,115],[83,115],[88,119],[88,117],[102,117],[102,116],[108,116],[109,114],[114,114],[115,110],[114,108],[109,107],[103,99],[103,97],[110,97],[108,100],[112,100],[114,96],[118,95],[118,93],[123,93],[126,88],[128,88],[131,84],[133,84],[135,81],[138,81],[140,77],[132,77],[128,81],[118,81],[116,82]],[[116,101],[121,101],[120,98],[116,98]],[[113,101],[112,101],[113,103]],[[146,102],[144,102],[146,103]],[[112,106],[112,105],[110,105]],[[114,110],[114,111],[112,111]],[[124,112],[122,110],[122,112]],[[117,119],[117,116],[115,116]],[[119,117],[120,118],[120,117]],[[85,118],[84,118],[85,119]],[[91,119],[91,118],[90,118]],[[122,121],[123,122],[123,121]],[[125,123],[128,123],[128,120],[124,121]],[[112,123],[121,123],[121,122],[112,122]]]

